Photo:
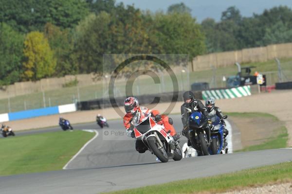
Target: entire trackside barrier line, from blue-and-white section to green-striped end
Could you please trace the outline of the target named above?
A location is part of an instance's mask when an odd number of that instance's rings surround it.
[[[195,97],[198,99],[206,99],[208,97],[214,97],[216,99],[222,98],[235,98],[235,97],[246,97],[251,95],[251,87],[243,86],[230,89],[213,89],[206,91],[194,92]],[[161,102],[171,102],[173,100],[183,101],[183,91],[182,92],[169,92],[162,94],[149,94],[143,96],[137,96],[141,104],[154,104]],[[46,116],[52,114],[60,113],[70,113],[77,110],[93,110],[93,109],[103,109],[112,106],[123,106],[125,97],[117,97],[113,99],[96,99],[89,101],[81,101],[76,104],[66,104],[48,108],[32,109],[26,111],[19,111],[14,113],[3,113],[0,114],[0,122],[20,120],[26,118],[33,118],[38,116]]]

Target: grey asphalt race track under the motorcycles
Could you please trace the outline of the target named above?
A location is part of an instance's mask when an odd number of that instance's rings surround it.
[[[173,115],[172,118],[175,128],[180,131],[180,116]],[[109,121],[109,124],[109,130],[123,129],[121,120]],[[139,154],[134,148],[134,141],[122,140],[124,137],[121,136],[113,141],[104,140],[104,131],[96,123],[73,125],[73,128],[97,129],[99,135],[67,165],[71,170],[0,177],[0,193],[96,194],[292,161],[292,149],[287,148],[201,156],[160,163],[148,151]],[[61,129],[39,129],[37,133],[56,130]],[[35,132],[22,131],[16,135]],[[184,137],[182,144],[183,140]]]

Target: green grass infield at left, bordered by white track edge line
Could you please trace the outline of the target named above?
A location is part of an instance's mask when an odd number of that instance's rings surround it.
[[[47,132],[0,140],[0,176],[61,170],[94,133]]]

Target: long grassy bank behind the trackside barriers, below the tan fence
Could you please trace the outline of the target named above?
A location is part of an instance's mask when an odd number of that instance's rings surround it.
[[[280,59],[282,70],[286,77],[292,78],[292,59]],[[277,71],[277,65],[274,60],[261,63],[247,63],[242,64],[242,66],[256,66],[256,69],[252,69],[252,74],[255,70],[259,72],[270,72]],[[236,65],[231,65],[224,68],[216,69],[215,81],[213,81],[213,70],[195,71],[189,73],[189,83],[187,80],[186,73],[175,72],[176,78],[179,83],[179,90],[188,90],[189,86],[193,82],[208,82],[210,87],[225,87],[225,82],[222,81],[222,77],[226,78],[231,75],[237,74]],[[160,76],[160,75],[158,75]],[[274,84],[277,80],[277,73],[267,74],[268,85]],[[161,76],[160,76],[161,78]],[[108,80],[109,81],[109,80]],[[160,79],[162,82],[162,79]],[[76,82],[68,83],[68,86],[75,85]],[[124,95],[125,91],[125,81],[118,81],[115,84],[115,88],[120,91],[120,95]],[[66,85],[67,86],[67,85]],[[164,76],[164,87],[160,87],[160,84],[154,84],[152,78],[140,79],[139,81],[140,92],[138,91],[138,81],[136,80],[133,84],[133,95],[139,96],[144,94],[154,94],[160,92],[170,92],[173,91],[172,80],[170,76]],[[79,91],[79,97],[78,97]],[[103,89],[102,84],[95,84],[83,87],[65,87],[57,90],[45,91],[45,104],[48,106],[58,106],[62,104],[74,103],[80,99],[80,101],[91,100],[95,98],[103,97],[106,89]],[[119,94],[118,94],[119,95]],[[22,110],[43,108],[43,94],[41,92],[27,94],[17,97],[10,98],[10,111],[17,112]],[[8,99],[0,99],[0,113],[8,113]]]

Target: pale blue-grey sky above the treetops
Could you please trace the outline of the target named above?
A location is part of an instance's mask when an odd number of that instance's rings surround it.
[[[166,12],[169,5],[183,2],[192,9],[192,16],[200,23],[207,17],[219,21],[221,13],[230,6],[236,6],[241,15],[246,17],[253,16],[253,13],[261,14],[265,9],[274,6],[286,5],[292,8],[292,0],[116,0],[116,2],[134,4],[136,8],[152,12],[159,10]]]

